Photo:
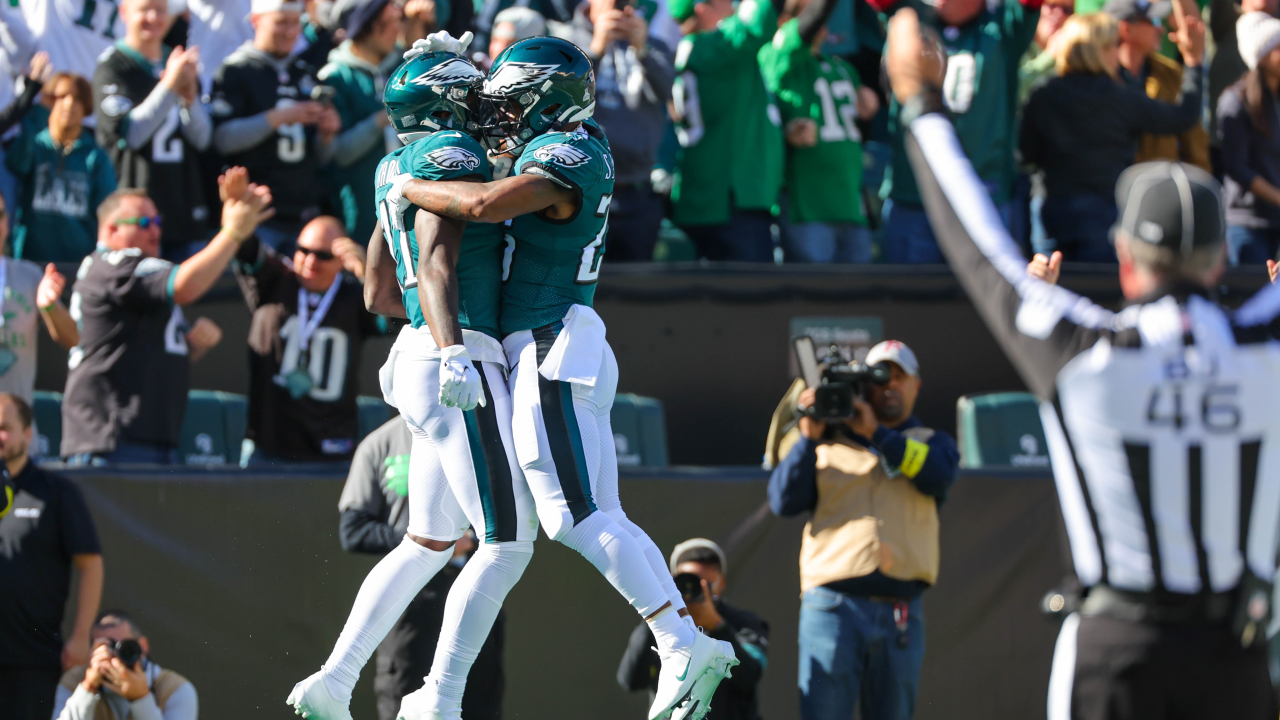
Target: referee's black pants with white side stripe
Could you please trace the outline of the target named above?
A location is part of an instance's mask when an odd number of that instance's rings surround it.
[[[1265,647],[1226,629],[1082,618],[1064,625],[1050,680],[1050,720],[1275,720]],[[1074,646],[1074,647],[1073,647]],[[1074,674],[1060,674],[1075,652]],[[1064,707],[1070,680],[1070,714]]]

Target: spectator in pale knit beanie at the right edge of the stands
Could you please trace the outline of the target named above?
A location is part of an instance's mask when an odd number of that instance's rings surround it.
[[[1280,247],[1280,19],[1248,13],[1236,33],[1249,72],[1217,102],[1226,246],[1231,264],[1260,264]]]

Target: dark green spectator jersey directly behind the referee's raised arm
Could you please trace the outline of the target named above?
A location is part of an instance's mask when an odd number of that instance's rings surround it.
[[[936,13],[924,8],[924,17]],[[941,20],[937,20],[941,22]],[[1007,202],[1012,192],[1014,149],[1018,146],[1018,67],[1036,36],[1039,10],[1007,0],[984,9],[965,27],[938,27],[947,50],[942,95],[955,123],[956,137],[974,172],[987,184],[991,199]],[[920,191],[902,147],[897,100],[890,102],[893,163],[884,176],[882,197],[920,205]]]

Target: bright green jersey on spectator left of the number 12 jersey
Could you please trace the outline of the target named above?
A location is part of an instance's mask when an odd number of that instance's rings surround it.
[[[756,64],[777,23],[769,0],[742,0],[716,29],[676,47],[677,225],[722,224],[731,209],[773,210],[778,201],[782,118]]]

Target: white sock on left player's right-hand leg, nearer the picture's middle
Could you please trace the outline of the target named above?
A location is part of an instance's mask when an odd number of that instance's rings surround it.
[[[435,688],[436,710],[462,707],[471,665],[532,556],[532,542],[483,543],[453,580],[444,601],[431,674],[426,676],[426,684]]]

